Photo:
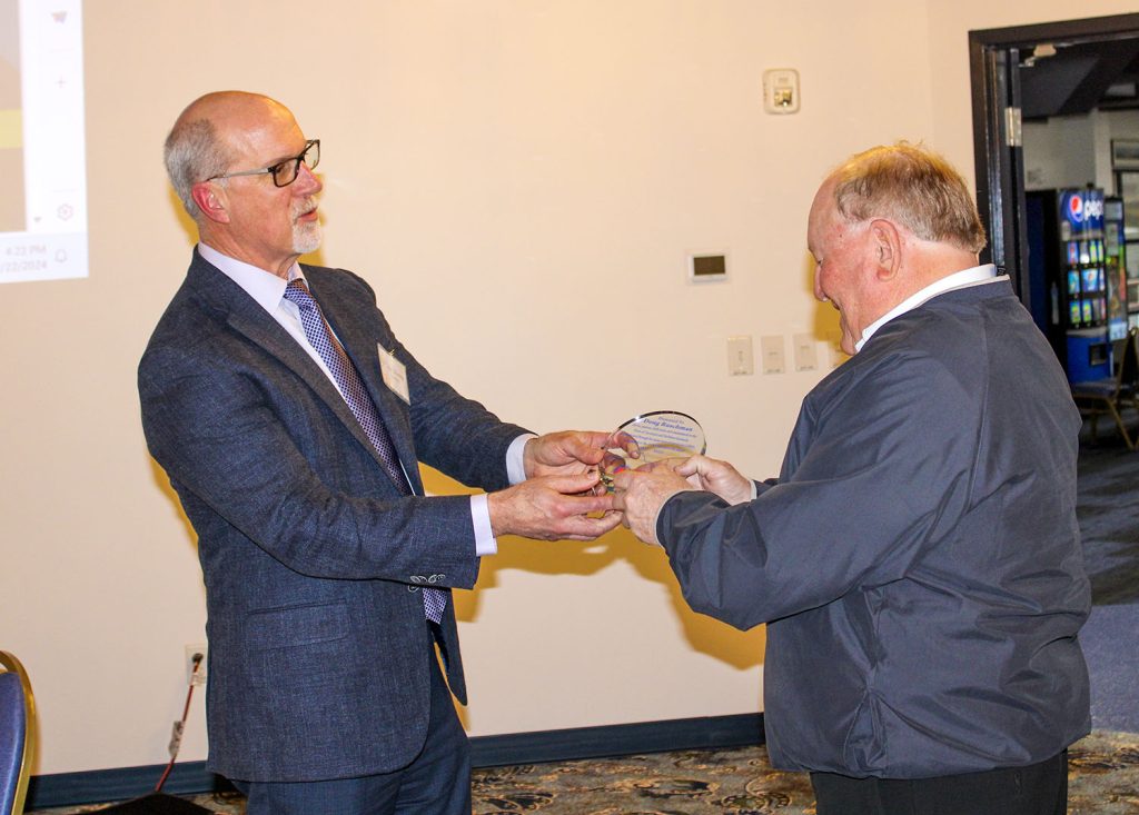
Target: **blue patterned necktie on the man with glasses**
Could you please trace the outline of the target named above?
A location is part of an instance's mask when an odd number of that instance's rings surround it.
[[[325,315],[320,313],[320,306],[317,305],[317,301],[309,294],[309,287],[304,285],[304,280],[301,278],[290,280],[288,286],[285,287],[285,299],[294,303],[301,311],[301,324],[304,327],[304,336],[309,338],[309,343],[312,344],[312,347],[320,354],[320,359],[328,365],[328,370],[331,372],[333,379],[336,380],[336,385],[339,387],[341,395],[344,397],[349,410],[352,411],[352,415],[360,422],[360,427],[363,428],[363,433],[368,437],[368,441],[371,442],[371,446],[379,454],[379,460],[384,463],[384,470],[402,494],[410,495],[411,487],[408,485],[408,477],[403,474],[403,468],[400,467],[400,458],[395,453],[395,445],[392,444],[392,437],[388,435],[387,428],[384,427],[383,419],[379,418],[379,411],[376,410],[375,403],[368,395],[363,380],[360,379],[360,372],[357,371],[355,365],[352,364],[349,355],[344,352],[344,346],[333,336],[328,323],[325,321]],[[427,615],[427,619],[433,623],[440,623],[443,619],[443,609],[446,608],[446,592],[425,586],[423,593],[424,611]]]

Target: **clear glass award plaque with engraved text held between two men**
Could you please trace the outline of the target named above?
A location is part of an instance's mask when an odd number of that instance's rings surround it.
[[[601,462],[601,483],[613,491],[613,476],[665,459],[687,459],[707,450],[704,428],[679,411],[641,413],[609,434]]]

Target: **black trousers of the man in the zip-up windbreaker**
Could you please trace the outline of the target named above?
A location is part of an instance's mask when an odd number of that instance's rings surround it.
[[[811,773],[818,815],[1065,815],[1067,750],[1027,767],[934,779]]]

